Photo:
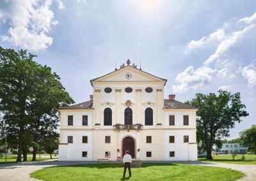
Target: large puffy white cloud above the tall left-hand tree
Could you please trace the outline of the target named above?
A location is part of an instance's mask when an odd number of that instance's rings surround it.
[[[3,41],[33,52],[51,46],[53,39],[47,33],[52,25],[58,24],[54,20],[54,13],[49,9],[51,0],[10,0],[4,3],[5,8],[10,11],[0,8],[0,14],[10,20],[10,28],[7,34],[1,36]]]

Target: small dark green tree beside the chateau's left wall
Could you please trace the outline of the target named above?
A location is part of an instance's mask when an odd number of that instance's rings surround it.
[[[58,149],[60,135],[58,133],[51,133],[45,136],[43,149],[47,154],[50,154],[52,159],[52,152]]]

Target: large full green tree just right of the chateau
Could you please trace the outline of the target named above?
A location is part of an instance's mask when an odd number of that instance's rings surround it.
[[[196,94],[192,101],[186,104],[198,108],[196,112],[196,136],[198,141],[202,141],[199,149],[207,152],[207,159],[212,159],[212,146],[220,147],[221,138],[229,136],[229,129],[235,126],[236,122],[241,122],[241,117],[249,114],[244,110],[246,107],[241,103],[240,93],[230,94],[227,91],[215,93]]]

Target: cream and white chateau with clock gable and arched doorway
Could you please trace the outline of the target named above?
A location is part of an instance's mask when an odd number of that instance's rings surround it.
[[[91,81],[90,101],[60,109],[60,161],[195,161],[196,108],[164,99],[167,80],[127,65]]]

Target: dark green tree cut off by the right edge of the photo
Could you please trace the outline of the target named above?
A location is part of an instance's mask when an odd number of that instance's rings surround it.
[[[250,152],[256,154],[256,124],[252,127],[245,129],[239,133],[241,138],[241,144],[245,147],[249,147]]]

